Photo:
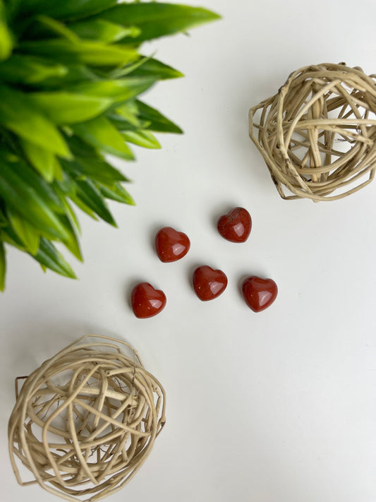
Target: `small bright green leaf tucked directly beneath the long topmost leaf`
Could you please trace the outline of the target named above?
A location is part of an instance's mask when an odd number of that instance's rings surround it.
[[[137,37],[139,28],[135,26],[121,26],[103,19],[92,19],[69,25],[70,30],[78,37],[85,40],[98,40],[99,42],[119,42],[124,37]]]

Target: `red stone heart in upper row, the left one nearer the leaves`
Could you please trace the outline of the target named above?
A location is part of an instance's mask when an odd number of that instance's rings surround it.
[[[160,261],[170,263],[186,256],[190,248],[190,241],[186,234],[178,232],[172,227],[163,227],[155,236],[155,251]]]

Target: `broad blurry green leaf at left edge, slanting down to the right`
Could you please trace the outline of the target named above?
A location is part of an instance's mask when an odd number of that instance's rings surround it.
[[[6,85],[0,85],[0,121],[21,138],[62,157],[69,157],[66,143],[54,124],[28,100],[27,95]]]

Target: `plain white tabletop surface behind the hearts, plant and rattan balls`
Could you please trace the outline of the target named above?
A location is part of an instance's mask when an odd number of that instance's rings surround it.
[[[307,64],[346,61],[376,71],[376,4],[202,0],[223,20],[145,45],[186,78],[145,100],[180,124],[162,150],[136,151],[123,169],[135,208],[111,208],[119,229],[82,216],[80,280],[8,252],[0,297],[2,501],[47,502],[16,484],[6,426],[13,381],[68,342],[102,333],[131,342],[167,393],[167,424],[142,470],[111,501],[376,501],[376,184],[344,200],[282,201],[248,138],[248,108]],[[243,205],[245,244],[216,220]],[[164,264],[159,227],[186,232],[191,249]],[[229,285],[200,302],[197,265]],[[245,275],[273,277],[263,313],[243,302]],[[164,290],[166,309],[140,320],[128,303],[138,280]],[[57,500],[57,499],[56,499]]]

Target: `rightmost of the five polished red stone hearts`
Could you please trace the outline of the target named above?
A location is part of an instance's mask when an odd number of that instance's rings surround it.
[[[277,284],[272,279],[262,279],[251,275],[243,281],[243,298],[254,312],[260,312],[272,305],[277,298]]]

